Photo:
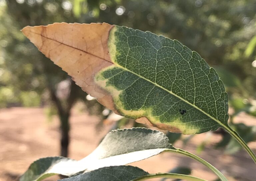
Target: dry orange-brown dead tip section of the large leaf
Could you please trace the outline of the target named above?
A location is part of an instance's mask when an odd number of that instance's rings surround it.
[[[27,26],[22,32],[46,57],[68,72],[84,91],[114,110],[112,97],[94,82],[97,72],[113,65],[107,45],[113,27],[107,23],[54,23]]]

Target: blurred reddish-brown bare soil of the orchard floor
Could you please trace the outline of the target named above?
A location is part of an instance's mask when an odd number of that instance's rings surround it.
[[[99,119],[95,116],[89,116],[75,109],[72,111],[70,158],[81,159],[97,147],[101,138],[111,128],[111,125],[105,125],[97,131],[98,122]],[[243,113],[235,119],[235,122],[256,125],[255,118]],[[15,180],[30,163],[40,157],[59,155],[58,130],[58,119],[54,118],[52,122],[47,121],[44,108],[0,109],[0,181]],[[201,153],[197,153],[197,145],[208,136],[206,148]],[[241,150],[230,156],[223,150],[215,150],[213,144],[218,140],[220,136],[204,133],[193,136],[185,146],[180,140],[174,146],[204,158],[219,169],[229,181],[255,181],[256,165],[248,154]],[[251,142],[249,146],[256,152],[256,142]],[[193,168],[192,175],[194,176],[209,181],[216,179],[216,176],[202,164],[173,153],[162,153],[131,165],[150,173],[167,172],[178,165],[189,166]],[[46,180],[57,179],[58,176],[54,176]]]

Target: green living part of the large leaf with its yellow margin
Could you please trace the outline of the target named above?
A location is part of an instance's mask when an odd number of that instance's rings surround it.
[[[176,40],[118,26],[108,46],[114,65],[95,80],[110,92],[121,115],[183,134],[227,125],[224,85],[195,51]]]

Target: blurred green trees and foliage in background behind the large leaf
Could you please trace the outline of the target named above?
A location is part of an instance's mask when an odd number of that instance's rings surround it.
[[[233,110],[231,124],[240,112],[256,116],[255,0],[0,0],[0,107],[48,105],[49,117],[60,118],[62,156],[68,154],[68,120],[76,101],[102,120],[111,112],[82,92],[20,32],[28,25],[54,22],[107,22],[176,39],[219,73]],[[131,124],[118,120],[113,128]],[[256,139],[256,127],[232,127],[247,142]],[[216,147],[226,146],[229,153],[240,148],[225,132],[216,133],[223,136]],[[181,135],[169,133],[169,137],[175,142]]]

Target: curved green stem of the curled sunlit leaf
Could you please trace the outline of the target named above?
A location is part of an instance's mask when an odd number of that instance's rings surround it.
[[[220,178],[221,181],[228,181],[228,179],[217,168],[212,166],[210,163],[208,163],[204,159],[202,159],[202,158],[200,158],[200,157],[198,157],[198,156],[196,156],[196,155],[194,155],[194,154],[192,154],[188,151],[173,147],[172,149],[165,150],[165,152],[180,153],[182,155],[193,158],[194,160],[199,161],[200,163],[204,164],[209,169],[211,169]]]

